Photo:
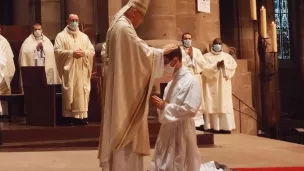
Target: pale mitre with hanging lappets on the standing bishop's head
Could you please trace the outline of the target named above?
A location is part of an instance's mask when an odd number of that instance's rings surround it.
[[[143,15],[147,14],[150,0],[130,0],[122,9],[120,9],[114,16],[110,25],[111,29],[118,19],[131,7],[138,9]]]

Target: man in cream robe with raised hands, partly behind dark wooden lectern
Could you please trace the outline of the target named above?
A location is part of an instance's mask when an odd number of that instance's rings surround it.
[[[43,34],[42,26],[34,24],[32,34],[23,42],[19,53],[20,67],[45,66],[48,84],[60,84],[54,46]]]

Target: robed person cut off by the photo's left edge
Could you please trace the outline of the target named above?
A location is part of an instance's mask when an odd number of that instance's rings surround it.
[[[1,35],[0,26],[0,95],[11,94],[15,74],[14,54],[8,41]],[[7,102],[1,102],[0,115],[8,115]]]

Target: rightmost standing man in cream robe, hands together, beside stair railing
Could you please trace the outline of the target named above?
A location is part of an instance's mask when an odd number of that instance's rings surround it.
[[[204,54],[198,64],[205,79],[204,129],[231,133],[235,129],[231,78],[237,63],[231,55],[222,51],[222,40],[217,38],[212,43],[211,52]]]

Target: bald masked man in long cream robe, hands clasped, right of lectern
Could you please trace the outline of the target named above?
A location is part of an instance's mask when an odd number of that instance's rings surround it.
[[[69,125],[88,124],[88,105],[95,50],[79,28],[79,18],[70,14],[68,25],[55,39],[55,57],[62,80],[63,117]]]

